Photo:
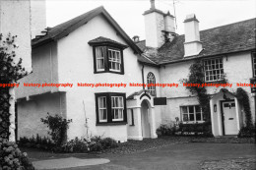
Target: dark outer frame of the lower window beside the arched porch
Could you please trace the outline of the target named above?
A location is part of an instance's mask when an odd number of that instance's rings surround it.
[[[100,92],[95,93],[96,95],[96,126],[98,125],[126,125],[127,124],[127,109],[126,109],[126,94],[120,92]],[[105,97],[106,98],[106,121],[99,121],[99,109],[98,109],[98,98]],[[122,97],[123,98],[123,119],[113,119],[112,118],[112,97]]]

